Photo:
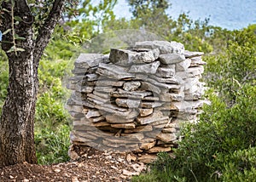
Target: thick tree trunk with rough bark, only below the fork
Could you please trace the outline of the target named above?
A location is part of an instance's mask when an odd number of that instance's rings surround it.
[[[36,163],[33,136],[38,73],[31,54],[9,60],[8,96],[0,124],[0,167],[20,162]]]

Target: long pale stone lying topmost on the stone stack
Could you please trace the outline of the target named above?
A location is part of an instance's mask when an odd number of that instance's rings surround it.
[[[173,45],[167,41],[143,41],[135,43],[134,48],[159,48],[160,54],[173,53]]]

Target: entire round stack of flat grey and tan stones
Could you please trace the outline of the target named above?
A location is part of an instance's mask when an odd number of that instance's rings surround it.
[[[196,122],[204,103],[202,54],[166,41],[80,54],[68,84],[73,145],[133,151],[141,161],[172,151],[181,124]]]

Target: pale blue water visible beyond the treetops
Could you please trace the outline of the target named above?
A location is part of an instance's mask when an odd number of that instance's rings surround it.
[[[209,24],[234,30],[256,24],[256,0],[176,0],[167,14],[174,19],[183,12],[192,20],[210,18]],[[128,3],[118,0],[114,8],[118,18],[131,18]]]

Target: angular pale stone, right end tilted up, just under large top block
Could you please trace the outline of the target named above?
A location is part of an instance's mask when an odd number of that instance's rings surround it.
[[[156,73],[156,70],[159,67],[159,65],[160,65],[159,61],[155,61],[153,63],[144,64],[144,65],[131,65],[131,68],[128,72],[154,74]]]

